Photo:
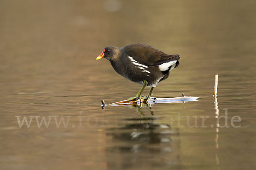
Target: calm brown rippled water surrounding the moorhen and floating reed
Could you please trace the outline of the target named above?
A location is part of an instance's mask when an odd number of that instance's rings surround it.
[[[0,0],[0,169],[255,169],[255,30],[254,0]],[[136,42],[182,57],[153,96],[204,98],[102,110],[141,86],[96,57]]]

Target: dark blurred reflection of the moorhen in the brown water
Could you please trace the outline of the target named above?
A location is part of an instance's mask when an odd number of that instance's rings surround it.
[[[159,168],[177,166],[179,133],[169,124],[155,117],[150,105],[132,105],[140,113],[124,119],[124,125],[108,129],[106,135],[112,146],[106,147],[106,161],[110,169]],[[148,108],[150,114],[142,113]],[[145,116],[148,115],[148,116]]]

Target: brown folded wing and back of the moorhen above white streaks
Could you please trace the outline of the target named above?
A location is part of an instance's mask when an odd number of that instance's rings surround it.
[[[180,59],[179,54],[168,55],[150,45],[138,43],[125,46],[125,52],[143,65],[157,66]]]

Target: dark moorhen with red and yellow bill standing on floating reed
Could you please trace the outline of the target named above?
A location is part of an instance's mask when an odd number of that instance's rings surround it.
[[[130,99],[150,99],[157,84],[169,76],[169,71],[179,65],[179,54],[169,55],[150,45],[137,43],[122,48],[108,46],[96,59],[105,58],[122,77],[143,85],[139,93]],[[148,96],[141,94],[145,87],[151,87]]]

